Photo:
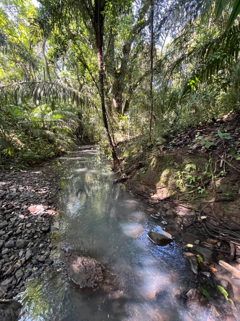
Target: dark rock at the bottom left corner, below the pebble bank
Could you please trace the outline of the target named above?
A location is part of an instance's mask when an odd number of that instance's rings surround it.
[[[17,321],[21,310],[21,303],[14,300],[0,300],[0,320]]]

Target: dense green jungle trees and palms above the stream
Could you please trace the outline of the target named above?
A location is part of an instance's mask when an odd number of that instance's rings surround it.
[[[159,146],[239,110],[239,12],[238,0],[0,0],[1,162],[99,142],[118,163],[121,139]]]

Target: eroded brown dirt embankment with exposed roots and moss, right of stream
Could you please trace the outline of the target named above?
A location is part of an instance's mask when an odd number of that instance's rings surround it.
[[[240,115],[165,137],[160,146],[126,140],[117,152],[120,180],[161,214],[149,219],[166,224],[197,256],[186,256],[196,273],[213,275],[240,302]],[[235,275],[219,260],[230,262]]]

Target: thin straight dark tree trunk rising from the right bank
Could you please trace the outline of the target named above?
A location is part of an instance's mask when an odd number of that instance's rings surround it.
[[[153,41],[154,41],[154,35],[153,35],[153,18],[154,18],[154,0],[151,0],[151,22],[150,22],[150,28],[151,28],[151,47],[150,47],[150,117],[149,117],[149,129],[148,129],[148,140],[151,143],[152,141],[152,119],[153,119]]]

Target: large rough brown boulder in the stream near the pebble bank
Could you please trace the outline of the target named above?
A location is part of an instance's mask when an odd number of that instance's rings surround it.
[[[104,279],[105,268],[95,259],[73,252],[64,252],[68,277],[80,288],[93,287]]]

